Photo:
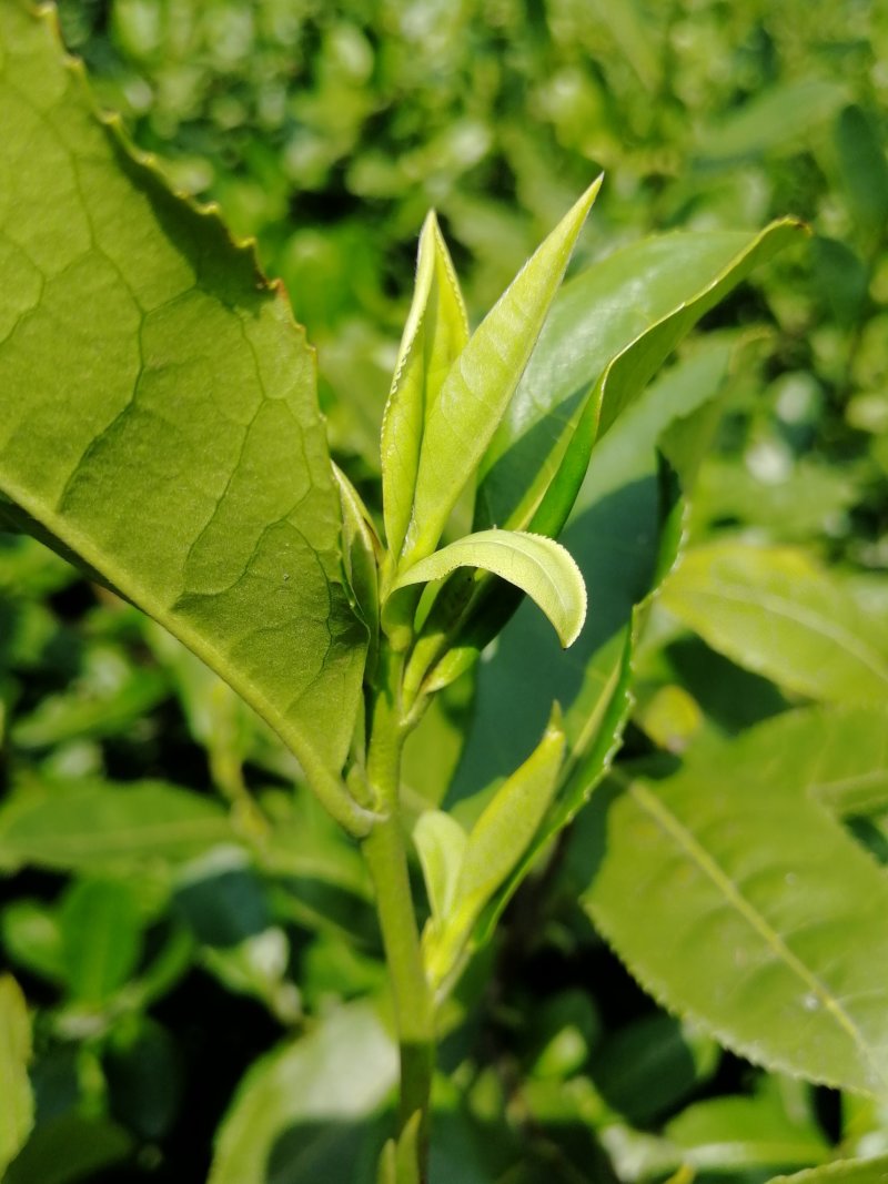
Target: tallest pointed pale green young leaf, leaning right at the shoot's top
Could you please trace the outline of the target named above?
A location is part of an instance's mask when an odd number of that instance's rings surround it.
[[[590,186],[525,264],[448,373],[426,418],[405,565],[435,551],[472,478],[527,366],[600,184],[599,178]]]

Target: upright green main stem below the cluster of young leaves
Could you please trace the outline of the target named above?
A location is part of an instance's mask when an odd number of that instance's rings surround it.
[[[435,1066],[435,1008],[423,966],[407,850],[400,816],[400,761],[405,728],[400,718],[400,677],[404,658],[382,648],[379,690],[373,704],[367,780],[380,819],[362,843],[377,894],[401,1062],[399,1132],[420,1113],[420,1159],[425,1159],[429,1105]],[[420,1178],[425,1166],[419,1164]]]

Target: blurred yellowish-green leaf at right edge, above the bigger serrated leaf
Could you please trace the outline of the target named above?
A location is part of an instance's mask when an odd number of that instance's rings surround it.
[[[688,552],[662,604],[732,661],[812,699],[883,703],[888,630],[794,547],[726,539]]]

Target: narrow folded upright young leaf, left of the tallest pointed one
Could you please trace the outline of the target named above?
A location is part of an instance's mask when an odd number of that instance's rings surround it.
[[[430,213],[419,236],[413,303],[382,416],[382,514],[386,542],[395,558],[410,525],[425,423],[468,340],[469,318],[456,270]]]

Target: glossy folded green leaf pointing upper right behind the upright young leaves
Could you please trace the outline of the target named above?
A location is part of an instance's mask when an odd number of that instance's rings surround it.
[[[558,534],[596,438],[700,317],[796,234],[794,223],[664,234],[566,284],[482,462],[476,525]]]

